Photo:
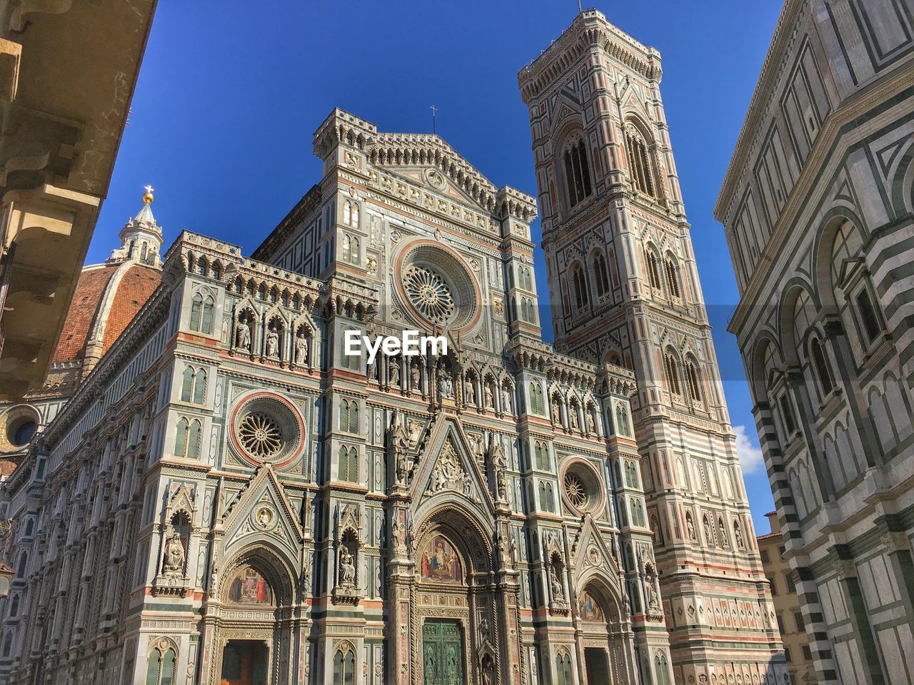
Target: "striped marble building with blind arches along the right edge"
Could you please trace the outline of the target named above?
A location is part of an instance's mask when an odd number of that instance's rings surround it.
[[[914,679],[910,2],[788,0],[717,200],[818,678]]]

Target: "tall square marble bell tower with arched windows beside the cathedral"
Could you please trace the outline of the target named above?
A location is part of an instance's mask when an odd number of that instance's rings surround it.
[[[518,76],[530,112],[555,344],[636,374],[632,410],[675,681],[738,674],[780,681],[786,666],[661,76],[660,53],[595,10],[581,12]]]

